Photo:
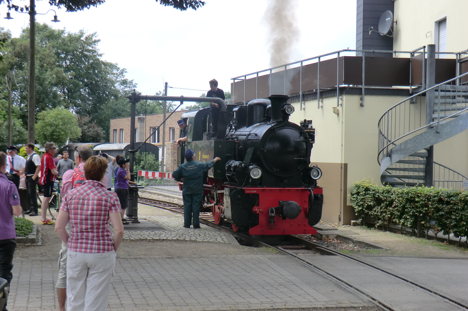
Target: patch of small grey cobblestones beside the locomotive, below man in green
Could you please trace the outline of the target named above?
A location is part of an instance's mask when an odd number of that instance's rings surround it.
[[[230,243],[222,231],[201,224],[200,229],[183,228],[183,219],[180,217],[167,216],[139,216],[155,222],[166,230],[161,231],[125,231],[124,239],[144,240],[144,239],[167,239],[167,240],[186,240],[199,242],[219,242]]]

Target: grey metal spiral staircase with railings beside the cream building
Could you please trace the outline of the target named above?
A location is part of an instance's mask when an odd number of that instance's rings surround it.
[[[382,115],[378,154],[382,184],[462,188],[468,178],[433,162],[431,146],[468,129],[468,85],[463,83],[467,78],[468,73],[461,74],[425,89]]]

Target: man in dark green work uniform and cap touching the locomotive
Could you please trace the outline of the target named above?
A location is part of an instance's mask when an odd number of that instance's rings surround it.
[[[193,161],[195,152],[188,149],[185,151],[185,159],[187,162],[179,165],[172,172],[172,177],[176,181],[182,181],[182,200],[183,200],[183,227],[190,228],[193,223],[193,228],[200,228],[200,208],[203,200],[203,177],[205,172],[211,169],[216,161],[221,160],[215,157],[208,163]],[[192,220],[193,219],[193,220]]]

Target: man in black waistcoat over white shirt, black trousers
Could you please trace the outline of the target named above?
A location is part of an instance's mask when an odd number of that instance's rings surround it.
[[[24,214],[29,214],[29,216],[37,216],[36,185],[37,181],[39,180],[37,176],[39,176],[39,172],[41,171],[41,157],[34,152],[33,143],[28,142],[24,148],[28,154],[24,175],[26,175],[26,189],[28,189],[30,207],[30,210],[28,212],[24,212]]]

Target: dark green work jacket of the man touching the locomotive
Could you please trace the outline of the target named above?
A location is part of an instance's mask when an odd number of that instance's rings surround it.
[[[176,181],[183,180],[182,191],[185,194],[203,193],[203,177],[205,172],[211,169],[214,165],[214,160],[208,163],[187,161],[172,172],[172,177]]]

